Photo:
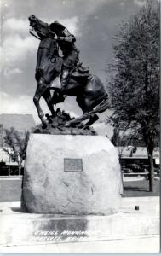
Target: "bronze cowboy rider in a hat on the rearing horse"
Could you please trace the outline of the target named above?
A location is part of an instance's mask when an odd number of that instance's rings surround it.
[[[60,74],[60,92],[66,89],[66,85],[69,82],[70,76],[74,67],[79,61],[79,51],[76,48],[74,42],[76,38],[61,25],[58,21],[55,21],[49,25],[52,32],[55,32],[57,36],[57,42],[63,54],[63,65]]]

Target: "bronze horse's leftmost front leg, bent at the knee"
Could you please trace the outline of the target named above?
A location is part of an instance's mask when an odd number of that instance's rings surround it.
[[[43,96],[43,93],[45,92],[45,90],[47,90],[47,85],[43,82],[43,79],[40,79],[38,84],[37,84],[37,90],[35,92],[35,95],[33,97],[33,102],[37,108],[37,113],[39,118],[41,119],[41,122],[43,124],[43,128],[47,127],[47,122],[44,119],[44,113],[42,108],[40,107],[40,98],[41,96]]]

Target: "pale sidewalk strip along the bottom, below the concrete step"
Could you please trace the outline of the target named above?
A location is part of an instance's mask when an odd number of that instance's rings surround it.
[[[34,246],[0,247],[1,253],[159,253],[159,236]]]

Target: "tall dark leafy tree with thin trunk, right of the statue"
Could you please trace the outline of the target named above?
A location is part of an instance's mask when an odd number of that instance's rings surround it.
[[[147,1],[129,22],[119,27],[114,49],[115,63],[108,65],[112,79],[111,122],[119,130],[142,137],[150,166],[150,191],[153,191],[152,153],[159,127],[159,6]]]

